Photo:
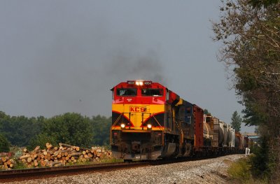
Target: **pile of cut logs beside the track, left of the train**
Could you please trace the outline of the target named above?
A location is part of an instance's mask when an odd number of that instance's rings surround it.
[[[24,163],[28,168],[60,167],[75,164],[77,162],[99,162],[101,159],[110,159],[112,157],[111,150],[105,150],[100,147],[86,149],[65,143],[59,143],[59,146],[52,146],[50,143],[46,143],[45,147],[46,149],[41,150],[40,146],[37,146],[32,151],[28,151],[24,148],[22,150],[22,155],[18,157],[18,162]],[[3,163],[5,164],[6,161]],[[13,164],[14,162],[10,161],[10,164],[5,164],[7,167],[4,167],[3,169],[12,168]]]

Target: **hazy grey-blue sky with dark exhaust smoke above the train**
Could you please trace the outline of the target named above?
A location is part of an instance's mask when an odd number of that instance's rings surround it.
[[[120,82],[159,82],[230,123],[244,108],[214,43],[212,1],[0,1],[0,111],[111,115]],[[241,132],[254,128],[242,126]]]

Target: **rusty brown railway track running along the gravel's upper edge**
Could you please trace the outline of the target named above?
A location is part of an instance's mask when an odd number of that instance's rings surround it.
[[[92,171],[113,171],[116,169],[127,169],[134,167],[144,167],[148,165],[160,165],[160,164],[171,164],[176,162],[187,162],[190,160],[203,160],[213,158],[214,156],[208,157],[188,157],[188,158],[177,158],[173,160],[156,160],[156,161],[139,161],[139,162],[116,162],[106,164],[88,164],[88,165],[73,165],[64,167],[43,167],[36,169],[16,169],[8,171],[0,171],[0,183],[12,182],[12,181],[23,181],[38,178],[50,178],[53,176],[64,176],[83,174],[85,172]]]

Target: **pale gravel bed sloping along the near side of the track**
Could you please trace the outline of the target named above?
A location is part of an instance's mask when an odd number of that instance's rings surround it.
[[[119,171],[101,171],[71,176],[17,181],[13,183],[228,183],[230,162],[244,155],[227,155],[208,160],[181,162]]]

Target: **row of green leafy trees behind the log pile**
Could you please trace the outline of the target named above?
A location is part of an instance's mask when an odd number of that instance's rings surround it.
[[[110,126],[111,118],[101,115],[87,117],[79,113],[64,113],[52,118],[27,118],[0,111],[0,152],[8,152],[9,146],[44,148],[46,142],[85,148],[108,146]]]

